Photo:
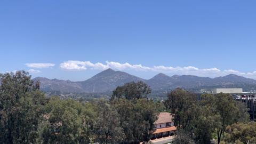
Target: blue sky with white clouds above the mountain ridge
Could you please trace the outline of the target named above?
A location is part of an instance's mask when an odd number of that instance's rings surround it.
[[[24,69],[33,77],[72,81],[106,68],[142,78],[157,73],[256,78],[255,5],[0,1],[0,72]]]

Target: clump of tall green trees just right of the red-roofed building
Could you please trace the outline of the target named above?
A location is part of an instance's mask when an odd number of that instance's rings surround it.
[[[236,102],[230,94],[204,94],[202,100],[197,101],[194,94],[176,89],[168,94],[165,105],[181,134],[186,133],[196,143],[211,143],[214,135],[220,143],[227,126],[249,121],[244,104]],[[178,138],[186,137],[175,139]]]

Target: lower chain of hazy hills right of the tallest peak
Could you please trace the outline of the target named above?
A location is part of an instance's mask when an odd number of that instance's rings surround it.
[[[147,84],[150,85],[153,90],[158,91],[172,90],[177,87],[197,92],[206,87],[242,87],[246,91],[256,89],[256,80],[234,74],[215,78],[198,77],[193,75],[174,75],[169,77],[164,74],[158,74],[149,79]]]

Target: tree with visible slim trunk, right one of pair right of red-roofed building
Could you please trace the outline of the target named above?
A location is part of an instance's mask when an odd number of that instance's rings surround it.
[[[218,143],[223,139],[226,127],[236,122],[247,122],[249,115],[243,103],[236,102],[230,94],[202,95],[200,105],[208,109],[207,124],[211,124],[217,133]],[[202,116],[202,115],[201,115]]]

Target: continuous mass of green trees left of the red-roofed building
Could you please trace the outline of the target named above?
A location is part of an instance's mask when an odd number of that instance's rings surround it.
[[[143,82],[118,87],[122,97],[79,102],[46,98],[25,71],[0,76],[0,143],[146,142],[163,109]]]

